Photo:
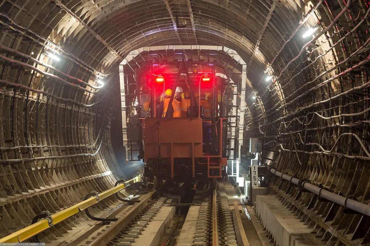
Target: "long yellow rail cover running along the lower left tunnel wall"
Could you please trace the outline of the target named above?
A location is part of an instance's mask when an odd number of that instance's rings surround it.
[[[98,200],[96,197],[90,197],[85,201],[79,202],[69,208],[63,209],[59,212],[56,212],[55,214],[52,214],[51,218],[53,219],[53,224],[51,226],[63,221],[64,219],[69,218],[72,215],[77,214],[80,211],[83,211],[88,207],[91,207],[95,203],[98,203],[99,201],[103,200],[104,198],[107,198],[110,195],[117,193],[118,191],[124,189],[126,187],[125,185],[138,182],[139,179],[140,179],[139,176],[136,176],[133,179],[125,181],[125,183],[121,183],[118,186],[112,187],[109,190],[99,193]],[[20,243],[50,228],[51,226],[49,225],[47,219],[42,219],[32,225],[20,229],[19,231],[13,232],[4,238],[0,238],[0,243]]]

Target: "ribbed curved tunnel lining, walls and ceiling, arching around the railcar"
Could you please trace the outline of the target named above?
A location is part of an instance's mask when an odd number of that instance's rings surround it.
[[[262,163],[368,203],[369,37],[365,0],[1,1],[0,236],[139,171],[112,150],[118,64],[154,45],[235,50],[251,83],[245,149],[258,137]],[[308,209],[312,194],[294,199],[296,189],[270,181],[270,194],[327,245],[369,242],[361,216],[323,202]],[[44,240],[84,220],[55,226]]]

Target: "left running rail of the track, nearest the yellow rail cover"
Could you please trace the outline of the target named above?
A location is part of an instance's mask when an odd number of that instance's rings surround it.
[[[157,196],[157,190],[151,191],[148,193],[147,197],[140,199],[140,202],[135,205],[130,211],[128,211],[123,217],[118,219],[117,222],[112,224],[101,233],[95,240],[93,240],[88,246],[105,246],[109,243],[114,237],[120,233],[132,219],[134,219],[145,207],[147,207],[150,200],[153,200]]]

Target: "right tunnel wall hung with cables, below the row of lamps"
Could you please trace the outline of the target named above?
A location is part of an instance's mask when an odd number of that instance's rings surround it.
[[[276,56],[267,69],[273,78],[253,85],[258,93],[249,107],[246,136],[259,137],[263,156],[273,159],[263,157],[262,163],[368,204],[369,3],[356,1],[349,9],[343,2],[325,2],[320,15],[315,13],[319,30],[334,28],[307,39],[295,35]],[[311,39],[314,44],[306,45]],[[369,243],[366,216],[317,200],[274,175],[267,179],[268,194],[324,245]]]

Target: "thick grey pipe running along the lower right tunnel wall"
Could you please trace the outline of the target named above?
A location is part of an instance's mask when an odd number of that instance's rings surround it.
[[[301,183],[301,181],[295,177],[289,176],[285,173],[282,173],[280,171],[277,171],[276,169],[270,168],[270,172],[275,174],[277,177],[280,177],[282,179],[285,179],[293,184],[298,185],[298,183]],[[353,199],[349,199],[348,197],[343,197],[341,195],[334,194],[330,191],[323,190],[322,188],[319,188],[317,186],[314,186],[313,184],[303,181],[301,184],[301,187],[316,194],[320,195],[320,197],[325,198],[329,201],[332,201],[336,204],[339,204],[345,208],[350,208],[354,211],[357,211],[361,214],[370,216],[370,205],[367,205],[363,202],[356,201]]]

